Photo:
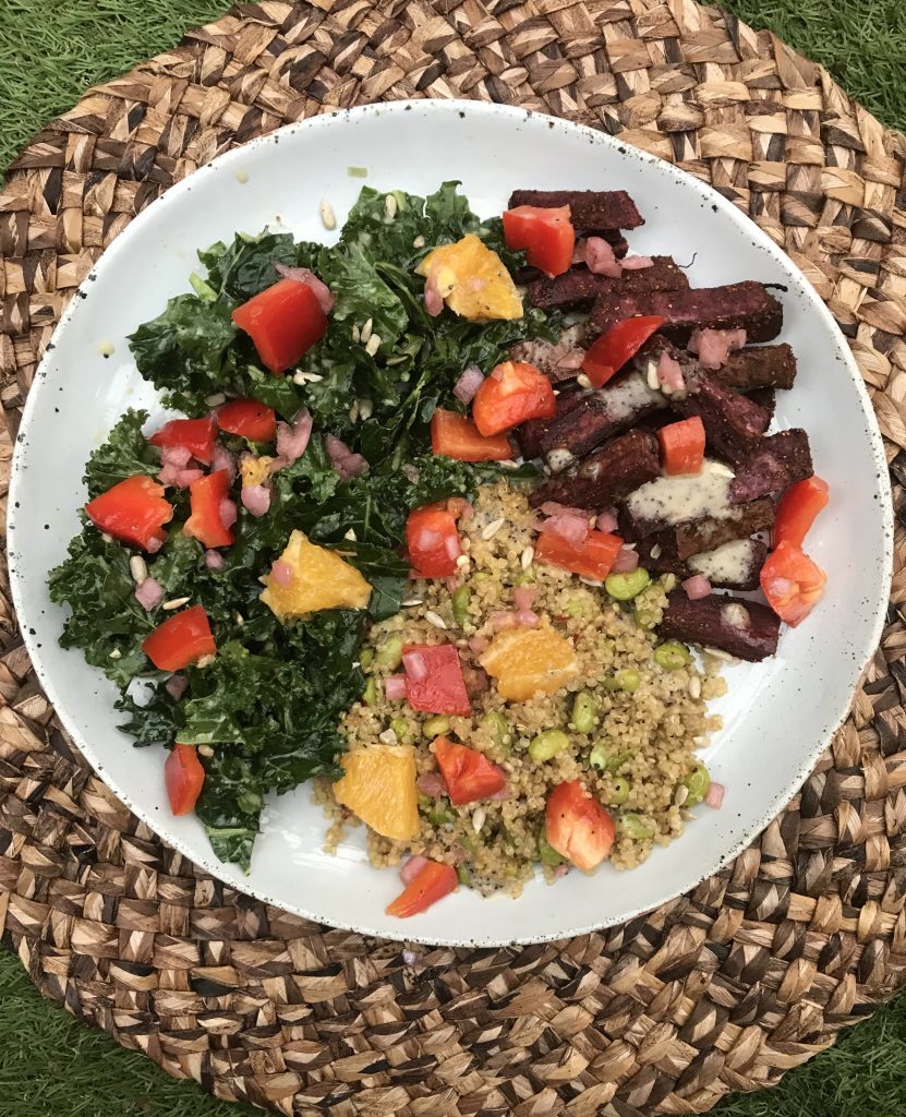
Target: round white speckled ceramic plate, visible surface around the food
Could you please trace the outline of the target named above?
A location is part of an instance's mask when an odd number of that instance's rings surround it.
[[[831,504],[809,537],[828,572],[819,608],[783,632],[780,653],[727,671],[714,708],[725,728],[705,754],[726,785],[721,811],[700,809],[682,839],[619,876],[572,872],[556,890],[534,880],[518,900],[460,889],[405,922],[384,915],[395,872],[372,869],[360,837],[321,852],[325,821],[308,787],[274,799],[251,873],[220,863],[194,818],[174,819],[163,748],[136,750],[117,729],[115,688],[80,652],[57,645],[62,612],[47,571],[79,529],[79,478],[89,452],[127,407],[160,411],[138,378],[126,335],[187,289],[195,249],[237,230],[278,223],[329,239],[322,198],[340,223],[368,169],[369,185],[418,194],[460,179],[482,216],[517,187],[625,188],[647,218],[637,252],[694,261],[695,286],[740,279],[784,284],[783,340],[799,357],[796,389],[779,393],[774,428],[808,429]],[[99,352],[112,343],[114,354]],[[10,491],[9,556],[19,621],[41,685],[85,756],[116,794],[168,842],[244,891],[338,927],[414,941],[499,945],[588,932],[692,888],[740,852],[801,785],[846,715],[880,637],[891,569],[890,493],[881,440],[861,380],[830,314],[787,257],[722,197],[618,140],[561,121],[473,102],[369,106],[290,125],[214,160],[142,213],[105,252],[73,299],[28,398]]]

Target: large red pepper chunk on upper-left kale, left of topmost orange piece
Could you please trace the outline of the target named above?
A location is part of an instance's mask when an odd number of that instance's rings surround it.
[[[306,283],[281,279],[233,311],[233,322],[254,342],[274,376],[298,364],[327,332],[327,315]]]

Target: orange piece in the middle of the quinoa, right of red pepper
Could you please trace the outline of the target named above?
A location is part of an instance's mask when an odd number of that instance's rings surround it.
[[[579,674],[572,645],[552,629],[507,629],[479,660],[497,680],[502,698],[527,701],[537,691],[553,694]]]

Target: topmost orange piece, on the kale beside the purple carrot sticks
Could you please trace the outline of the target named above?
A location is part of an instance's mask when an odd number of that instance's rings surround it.
[[[497,252],[472,232],[435,248],[415,270],[431,276],[450,309],[470,322],[522,317],[512,276]]]

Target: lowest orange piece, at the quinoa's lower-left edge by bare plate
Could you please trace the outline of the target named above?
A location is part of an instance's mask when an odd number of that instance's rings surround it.
[[[418,802],[412,745],[354,748],[340,763],[345,775],[334,784],[337,802],[385,838],[414,838],[418,832]]]

